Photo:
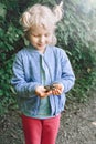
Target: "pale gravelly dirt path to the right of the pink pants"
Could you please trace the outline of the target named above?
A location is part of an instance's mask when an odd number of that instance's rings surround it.
[[[62,115],[57,144],[96,144],[96,91],[87,104],[73,104],[67,111]]]

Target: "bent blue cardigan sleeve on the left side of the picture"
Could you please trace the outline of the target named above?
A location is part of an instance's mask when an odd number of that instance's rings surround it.
[[[24,97],[33,96],[35,88],[41,85],[41,83],[28,82],[25,80],[22,54],[20,52],[15,55],[12,70],[13,76],[11,79],[11,84],[14,86],[17,93]]]

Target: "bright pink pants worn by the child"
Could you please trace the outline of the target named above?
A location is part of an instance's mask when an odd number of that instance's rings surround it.
[[[60,127],[60,115],[39,120],[22,115],[25,144],[55,144]]]

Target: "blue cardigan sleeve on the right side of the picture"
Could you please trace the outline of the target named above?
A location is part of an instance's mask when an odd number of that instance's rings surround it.
[[[75,74],[71,65],[70,59],[64,50],[60,50],[60,64],[62,68],[61,79],[56,80],[53,83],[62,83],[64,85],[64,92],[68,92],[75,83]]]

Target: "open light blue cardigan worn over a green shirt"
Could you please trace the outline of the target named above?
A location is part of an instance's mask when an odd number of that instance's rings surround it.
[[[50,95],[51,116],[55,116],[64,110],[65,93],[74,85],[75,75],[64,50],[47,45],[43,58],[51,79],[51,83],[46,83],[64,85],[64,92],[61,95]],[[35,95],[34,90],[42,83],[40,71],[40,53],[32,45],[17,53],[11,83],[18,93],[19,107],[28,116],[36,115],[39,112],[41,97]]]

